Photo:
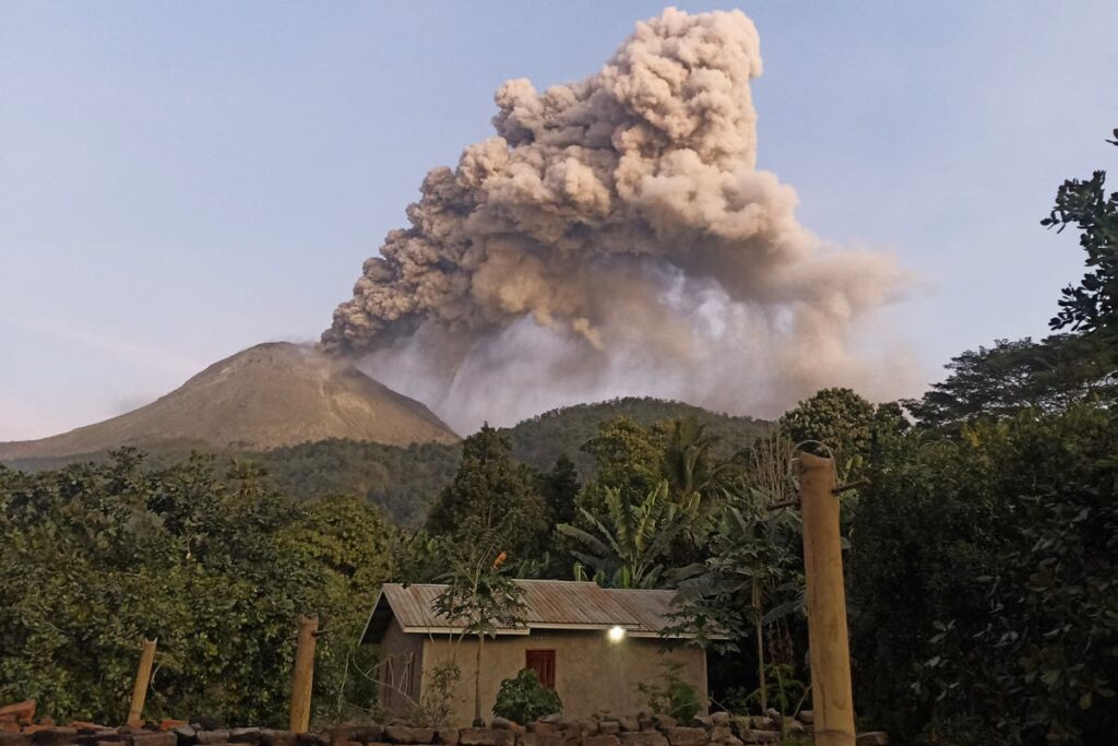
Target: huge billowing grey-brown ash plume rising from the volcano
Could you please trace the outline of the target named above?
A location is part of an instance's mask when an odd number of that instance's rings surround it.
[[[827,247],[756,168],[740,11],[669,9],[597,75],[496,92],[496,135],[437,168],[322,338],[458,429],[624,394],[779,412],[896,380],[852,352],[896,296],[882,255]]]

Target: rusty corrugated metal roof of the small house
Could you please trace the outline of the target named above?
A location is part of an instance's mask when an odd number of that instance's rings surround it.
[[[603,588],[575,580],[517,580],[523,588],[524,627],[502,629],[499,634],[528,634],[530,630],[606,630],[625,627],[635,636],[657,636],[672,624],[674,591]],[[373,607],[362,640],[379,639],[395,616],[405,632],[461,632],[434,611],[445,585],[386,583]],[[371,633],[371,635],[370,635]]]

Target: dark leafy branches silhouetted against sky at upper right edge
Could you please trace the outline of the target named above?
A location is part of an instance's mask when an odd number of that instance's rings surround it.
[[[1111,145],[1118,145],[1118,129]],[[1068,179],[1057,190],[1055,206],[1041,225],[1062,232],[1069,225],[1080,230],[1079,245],[1087,252],[1088,273],[1079,286],[1069,285],[1060,299],[1052,329],[1115,331],[1118,321],[1118,192],[1105,191],[1106,171],[1090,179]]]

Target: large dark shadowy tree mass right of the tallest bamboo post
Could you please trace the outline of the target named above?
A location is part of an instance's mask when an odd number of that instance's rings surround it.
[[[1025,412],[913,432],[872,465],[851,551],[861,711],[909,740],[1114,739],[1116,423]]]

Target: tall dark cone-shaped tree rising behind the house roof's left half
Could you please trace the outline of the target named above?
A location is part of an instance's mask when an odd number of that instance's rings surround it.
[[[509,442],[489,425],[462,445],[462,464],[427,518],[427,529],[455,539],[493,537],[501,551],[528,555],[547,531],[543,500]]]

